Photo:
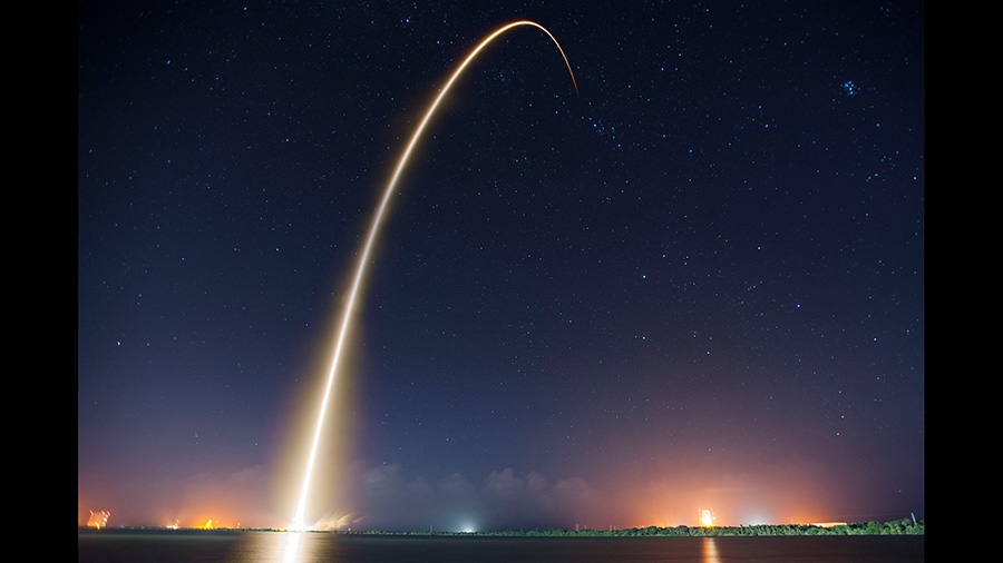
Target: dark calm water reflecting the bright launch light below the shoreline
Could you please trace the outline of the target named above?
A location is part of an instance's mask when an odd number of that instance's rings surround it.
[[[80,563],[913,563],[924,536],[483,537],[86,532]]]

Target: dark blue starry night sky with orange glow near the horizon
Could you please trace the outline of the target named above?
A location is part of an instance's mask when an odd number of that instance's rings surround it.
[[[916,2],[84,1],[78,522],[924,516]]]

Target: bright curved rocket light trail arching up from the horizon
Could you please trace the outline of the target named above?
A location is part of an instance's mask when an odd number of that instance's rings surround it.
[[[362,283],[362,277],[366,271],[366,264],[369,261],[369,253],[372,249],[373,240],[376,239],[376,235],[379,231],[380,221],[383,218],[383,211],[386,210],[387,204],[390,200],[390,195],[393,192],[393,188],[397,186],[397,180],[400,178],[400,174],[403,170],[405,165],[407,165],[408,158],[411,156],[411,151],[415,149],[415,145],[418,144],[418,140],[421,137],[421,132],[425,130],[425,126],[428,124],[428,121],[431,119],[432,115],[436,112],[436,108],[439,107],[439,102],[441,102],[442,98],[446,97],[446,92],[448,92],[449,88],[452,87],[452,82],[456,81],[456,79],[460,76],[460,73],[462,73],[464,69],[467,68],[467,65],[469,65],[470,61],[473,61],[477,57],[477,55],[485,47],[488,46],[488,43],[490,43],[496,37],[500,36],[501,33],[505,33],[509,29],[518,27],[518,26],[533,26],[535,28],[538,28],[544,33],[546,33],[547,37],[551,38],[551,40],[554,41],[554,45],[557,46],[557,50],[561,51],[561,57],[564,58],[564,63],[567,66],[568,73],[571,73],[572,85],[575,87],[575,95],[578,93],[578,83],[575,81],[575,73],[572,71],[571,63],[567,61],[567,57],[564,55],[564,49],[561,48],[561,43],[558,43],[557,39],[555,39],[554,36],[552,36],[551,32],[547,31],[539,23],[524,20],[524,21],[516,21],[513,23],[508,23],[507,26],[499,28],[497,31],[495,31],[494,33],[488,36],[487,39],[481,41],[480,45],[478,45],[470,52],[470,55],[467,56],[467,58],[459,66],[459,68],[456,69],[456,71],[449,78],[449,81],[446,82],[445,87],[442,87],[442,90],[439,92],[439,96],[436,97],[436,100],[428,108],[428,111],[425,113],[425,118],[421,120],[421,124],[418,125],[418,129],[415,130],[415,135],[411,137],[411,140],[410,140],[410,142],[408,142],[408,146],[405,149],[403,155],[400,157],[400,161],[397,165],[397,169],[393,171],[393,176],[390,178],[390,184],[387,185],[387,189],[383,192],[383,198],[380,201],[379,208],[377,209],[376,218],[373,219],[372,226],[370,227],[369,238],[366,240],[366,247],[362,250],[361,258],[359,259],[359,266],[356,269],[356,277],[354,277],[354,282],[352,283],[352,290],[349,294],[349,300],[344,308],[344,316],[341,320],[341,330],[338,334],[338,340],[334,344],[334,358],[331,362],[331,369],[328,373],[328,383],[327,383],[327,386],[324,387],[324,396],[323,396],[323,402],[321,403],[320,415],[318,416],[318,421],[317,421],[317,429],[313,434],[313,443],[310,447],[310,457],[306,461],[306,473],[303,476],[303,486],[300,490],[300,498],[299,498],[299,502],[296,503],[296,514],[293,517],[293,523],[292,523],[292,526],[290,527],[290,530],[292,530],[292,531],[305,530],[306,497],[309,496],[309,493],[310,493],[310,482],[313,476],[313,464],[317,458],[317,447],[320,442],[320,435],[321,435],[321,428],[323,427],[324,415],[328,411],[328,402],[331,397],[331,389],[334,387],[334,381],[335,381],[335,375],[337,375],[337,369],[338,369],[338,360],[341,357],[341,346],[344,343],[344,336],[345,336],[345,333],[348,332],[349,322],[351,320],[352,309],[356,304],[356,297],[359,294],[359,286]]]

